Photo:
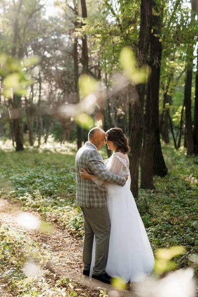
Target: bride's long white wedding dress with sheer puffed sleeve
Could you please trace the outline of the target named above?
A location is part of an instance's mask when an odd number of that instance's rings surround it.
[[[129,174],[129,179],[124,187],[115,184],[105,185],[111,222],[105,271],[111,277],[122,277],[127,283],[129,281],[141,282],[152,272],[154,256],[145,226],[130,191],[129,159],[127,154],[116,152],[104,164],[108,171],[115,174],[123,176]],[[94,178],[93,181],[97,187],[102,184],[99,178]],[[90,276],[95,263],[95,245],[94,240]]]

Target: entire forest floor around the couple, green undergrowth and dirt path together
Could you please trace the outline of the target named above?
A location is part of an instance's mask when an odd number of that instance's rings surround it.
[[[155,257],[159,248],[183,247],[171,257],[168,270],[192,267],[198,276],[198,157],[188,157],[185,148],[162,145],[162,150],[169,174],[154,177],[155,190],[139,189],[136,203]],[[0,141],[0,296],[135,295],[134,285],[119,291],[82,275],[75,154],[75,144],[50,139],[43,147],[21,152]],[[101,154],[105,159],[104,148]],[[23,224],[27,217],[19,224],[21,213],[39,218],[40,227],[28,229]]]

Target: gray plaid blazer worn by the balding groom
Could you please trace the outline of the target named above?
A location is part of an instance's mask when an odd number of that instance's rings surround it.
[[[98,149],[91,143],[86,142],[76,154],[76,204],[82,207],[106,207],[106,191],[96,187],[96,184],[88,179],[80,177],[79,170],[84,168],[88,173],[95,174],[101,180],[118,186],[124,186],[126,179],[124,176],[109,172],[103,163],[102,157]],[[101,186],[102,187],[102,186]]]

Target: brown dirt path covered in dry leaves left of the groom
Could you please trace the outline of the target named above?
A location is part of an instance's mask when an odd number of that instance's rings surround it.
[[[15,206],[15,204],[0,198],[0,224],[7,223],[14,228],[21,229],[21,226],[19,226],[16,222],[16,217],[20,212],[21,209],[19,206]],[[33,214],[38,216],[36,213]],[[44,233],[40,230],[33,231],[25,229],[25,231],[27,232],[26,236],[38,243],[41,248],[48,247],[52,258],[57,259],[53,263],[49,262],[48,267],[46,267],[49,270],[51,287],[55,284],[55,281],[64,277],[77,283],[77,288],[74,290],[76,290],[78,296],[85,296],[89,294],[91,297],[99,297],[99,290],[103,290],[103,288],[107,290],[107,294],[108,292],[110,293],[109,297],[113,297],[113,295],[116,297],[134,296],[132,293],[132,287],[131,290],[115,292],[113,287],[110,285],[84,277],[82,275],[83,240],[82,238],[75,238],[69,234],[67,229],[61,230],[54,226],[51,234]],[[13,297],[13,295],[5,294],[5,292],[3,293],[4,295],[2,293],[3,291],[1,288],[0,296]]]

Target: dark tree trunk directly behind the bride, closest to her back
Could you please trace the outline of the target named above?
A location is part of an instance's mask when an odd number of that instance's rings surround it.
[[[141,1],[141,23],[140,34],[137,52],[137,64],[141,67],[147,64],[148,48],[150,43],[152,17],[152,3],[148,0]],[[135,198],[138,198],[138,177],[139,177],[139,163],[142,149],[143,137],[143,103],[145,97],[145,84],[136,86],[134,94],[133,112],[134,118],[132,122],[132,129],[130,134],[129,144],[131,147],[130,153],[130,173],[131,173],[131,191]]]

